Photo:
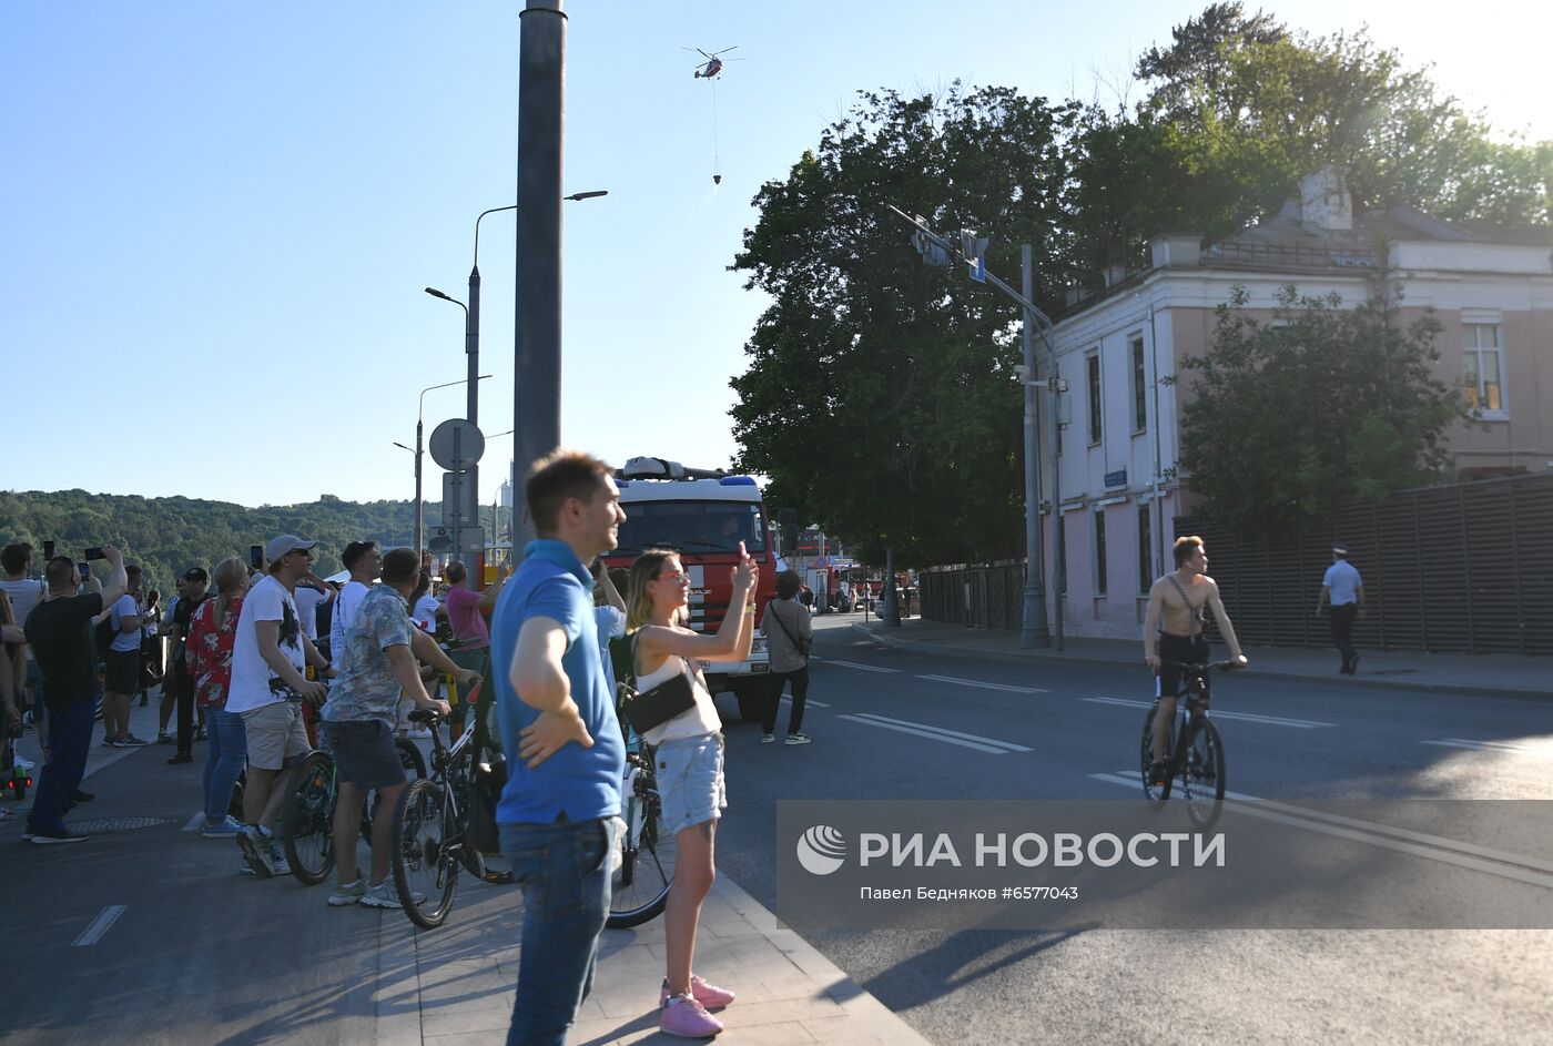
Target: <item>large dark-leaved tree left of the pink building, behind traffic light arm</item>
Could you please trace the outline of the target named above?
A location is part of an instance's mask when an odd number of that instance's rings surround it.
[[[991,236],[1017,272],[1061,216],[1075,109],[1005,88],[860,96],[761,211],[733,268],[772,295],[731,385],[738,467],[870,559],[1009,556],[1020,540],[1016,309],[957,267],[924,268],[895,203]],[[1061,275],[1047,273],[1048,298]]]

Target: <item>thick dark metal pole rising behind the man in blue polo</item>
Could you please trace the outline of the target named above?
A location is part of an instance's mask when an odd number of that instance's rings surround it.
[[[517,337],[512,346],[512,552],[533,537],[516,480],[561,444],[561,180],[567,16],[526,0],[517,57]],[[522,539],[522,540],[520,540]]]

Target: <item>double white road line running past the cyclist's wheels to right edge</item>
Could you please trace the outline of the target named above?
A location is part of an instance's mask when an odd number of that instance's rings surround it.
[[[1143,790],[1141,776],[1127,776],[1126,770],[1092,773],[1089,776],[1093,781],[1120,784],[1138,791]],[[1235,801],[1236,813],[1261,818],[1263,821],[1287,824],[1308,832],[1320,832],[1322,835],[1396,850],[1398,854],[1410,854],[1444,864],[1455,864],[1457,868],[1488,872],[1489,875],[1499,875],[1517,883],[1553,888],[1553,861],[1527,857],[1525,854],[1497,850],[1488,846],[1477,846],[1475,843],[1449,840],[1441,835],[1398,829],[1390,824],[1376,824],[1374,821],[1345,818],[1340,813],[1311,810],[1273,799],[1259,799],[1258,796],[1246,795],[1244,791],[1230,791],[1228,788],[1224,790],[1224,798]]]

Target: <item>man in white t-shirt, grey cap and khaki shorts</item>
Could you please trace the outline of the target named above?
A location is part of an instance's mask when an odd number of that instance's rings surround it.
[[[242,819],[236,836],[255,875],[289,875],[270,826],[280,813],[284,788],[275,782],[290,760],[307,753],[301,703],[323,703],[328,689],[309,683],[309,664],[328,669],[323,655],[301,627],[292,591],[312,568],[317,542],[281,534],[266,548],[270,573],[242,599],[231,646],[231,683],[227,711],[242,715],[248,746],[248,779],[242,790]]]

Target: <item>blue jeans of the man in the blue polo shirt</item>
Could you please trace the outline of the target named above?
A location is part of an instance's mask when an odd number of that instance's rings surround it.
[[[502,852],[523,889],[517,1001],[506,1046],[561,1046],[593,990],[609,914],[615,823],[503,824]]]

